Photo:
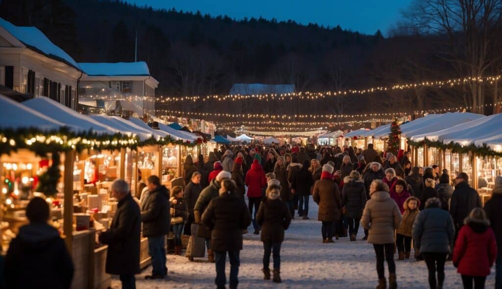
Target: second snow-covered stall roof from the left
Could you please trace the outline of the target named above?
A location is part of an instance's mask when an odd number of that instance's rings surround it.
[[[48,97],[32,98],[24,101],[23,104],[42,114],[50,115],[51,118],[66,125],[82,128],[81,131],[92,130],[99,134],[114,134],[119,132]],[[22,115],[18,115],[17,118],[22,118]]]

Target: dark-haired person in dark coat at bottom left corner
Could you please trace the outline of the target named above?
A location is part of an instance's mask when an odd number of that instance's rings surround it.
[[[20,228],[5,257],[6,288],[70,288],[73,262],[59,232],[47,224],[49,212],[49,205],[39,197],[26,207],[30,223]]]

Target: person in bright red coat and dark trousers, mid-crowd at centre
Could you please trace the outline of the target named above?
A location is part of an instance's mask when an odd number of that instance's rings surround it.
[[[265,172],[260,165],[258,160],[254,160],[251,168],[246,173],[246,178],[244,183],[247,186],[247,207],[249,213],[253,215],[253,227],[255,228],[254,234],[260,234],[260,226],[256,221],[256,214],[258,213],[258,208],[260,207],[260,202],[262,201],[262,188],[267,186],[267,178],[265,177]],[[255,207],[255,213],[253,214],[253,207]]]

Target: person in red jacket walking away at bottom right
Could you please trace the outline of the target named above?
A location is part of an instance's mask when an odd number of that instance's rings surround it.
[[[486,276],[497,255],[495,235],[481,208],[474,208],[464,221],[453,249],[453,265],[462,274],[464,288],[484,288]]]

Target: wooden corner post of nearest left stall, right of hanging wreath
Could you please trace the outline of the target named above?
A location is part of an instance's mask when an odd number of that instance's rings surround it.
[[[75,151],[68,151],[64,156],[64,215],[63,233],[68,252],[71,254],[73,237],[73,162]]]

